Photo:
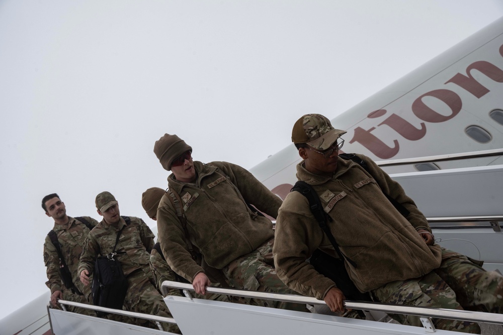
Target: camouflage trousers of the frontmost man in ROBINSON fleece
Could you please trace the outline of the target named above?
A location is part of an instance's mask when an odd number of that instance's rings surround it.
[[[384,303],[502,313],[503,276],[442,248],[438,269],[421,278],[388,283],[373,290],[372,295]],[[402,324],[422,326],[419,316],[390,316]],[[438,329],[480,333],[474,322],[440,318],[433,321]]]

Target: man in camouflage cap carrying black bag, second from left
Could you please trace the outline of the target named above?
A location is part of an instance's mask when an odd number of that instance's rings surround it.
[[[120,216],[119,204],[110,192],[101,192],[96,196],[96,207],[103,220],[89,234],[83,246],[78,265],[80,281],[86,286],[90,284],[96,258],[113,251],[117,234],[121,231],[115,258],[119,260],[128,281],[124,307],[133,312],[172,317],[152,284],[149,266],[149,252],[154,245],[152,231],[138,217],[130,216],[130,223],[126,224],[124,217]],[[180,333],[174,324],[161,324],[166,331]],[[157,328],[155,325],[152,327]]]

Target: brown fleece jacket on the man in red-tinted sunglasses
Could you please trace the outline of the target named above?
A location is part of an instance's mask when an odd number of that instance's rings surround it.
[[[206,263],[222,269],[232,260],[253,252],[274,237],[271,220],[257,215],[247,203],[272,217],[281,199],[251,173],[227,162],[194,162],[196,183],[183,183],[170,175],[168,185],[182,198],[187,230]],[[189,281],[203,272],[188,252],[182,224],[165,194],[157,209],[159,242],[167,263]]]

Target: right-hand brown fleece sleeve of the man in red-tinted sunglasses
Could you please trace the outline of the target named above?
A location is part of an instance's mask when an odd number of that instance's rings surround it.
[[[278,216],[278,209],[282,203],[281,198],[271,192],[248,170],[227,162],[213,162],[212,164],[218,166],[231,179],[246,202],[271,217]]]

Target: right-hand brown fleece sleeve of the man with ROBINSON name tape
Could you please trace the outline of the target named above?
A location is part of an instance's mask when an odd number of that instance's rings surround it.
[[[426,229],[431,233],[432,230],[425,215],[417,208],[415,202],[405,194],[405,191],[400,184],[391,179],[390,176],[369,157],[364,155],[357,156],[362,158],[365,163],[367,163],[372,176],[376,179],[377,184],[381,187],[382,191],[387,193],[410,212],[406,219],[410,222],[412,227],[414,227],[415,230]]]

